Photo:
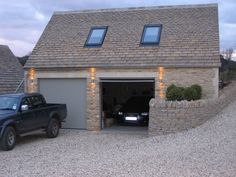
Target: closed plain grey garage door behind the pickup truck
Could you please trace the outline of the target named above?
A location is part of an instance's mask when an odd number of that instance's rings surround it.
[[[48,103],[65,103],[63,128],[86,129],[86,79],[39,79],[39,92]]]

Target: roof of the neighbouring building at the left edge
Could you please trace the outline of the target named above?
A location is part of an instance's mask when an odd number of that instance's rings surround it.
[[[0,93],[14,92],[23,79],[23,72],[22,66],[9,47],[0,45]]]

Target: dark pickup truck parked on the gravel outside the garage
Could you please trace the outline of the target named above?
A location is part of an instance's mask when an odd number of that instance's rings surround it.
[[[39,93],[0,95],[0,149],[13,149],[17,136],[38,129],[55,138],[66,116],[65,104],[48,104]]]

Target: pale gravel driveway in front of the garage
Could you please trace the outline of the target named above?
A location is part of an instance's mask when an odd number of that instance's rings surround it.
[[[62,130],[56,139],[29,135],[13,151],[0,151],[0,160],[0,177],[235,177],[236,102],[204,125],[177,134]]]

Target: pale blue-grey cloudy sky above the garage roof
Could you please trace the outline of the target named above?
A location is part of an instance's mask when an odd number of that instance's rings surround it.
[[[236,0],[0,0],[0,44],[32,51],[54,11],[218,3],[220,47],[236,49]]]

